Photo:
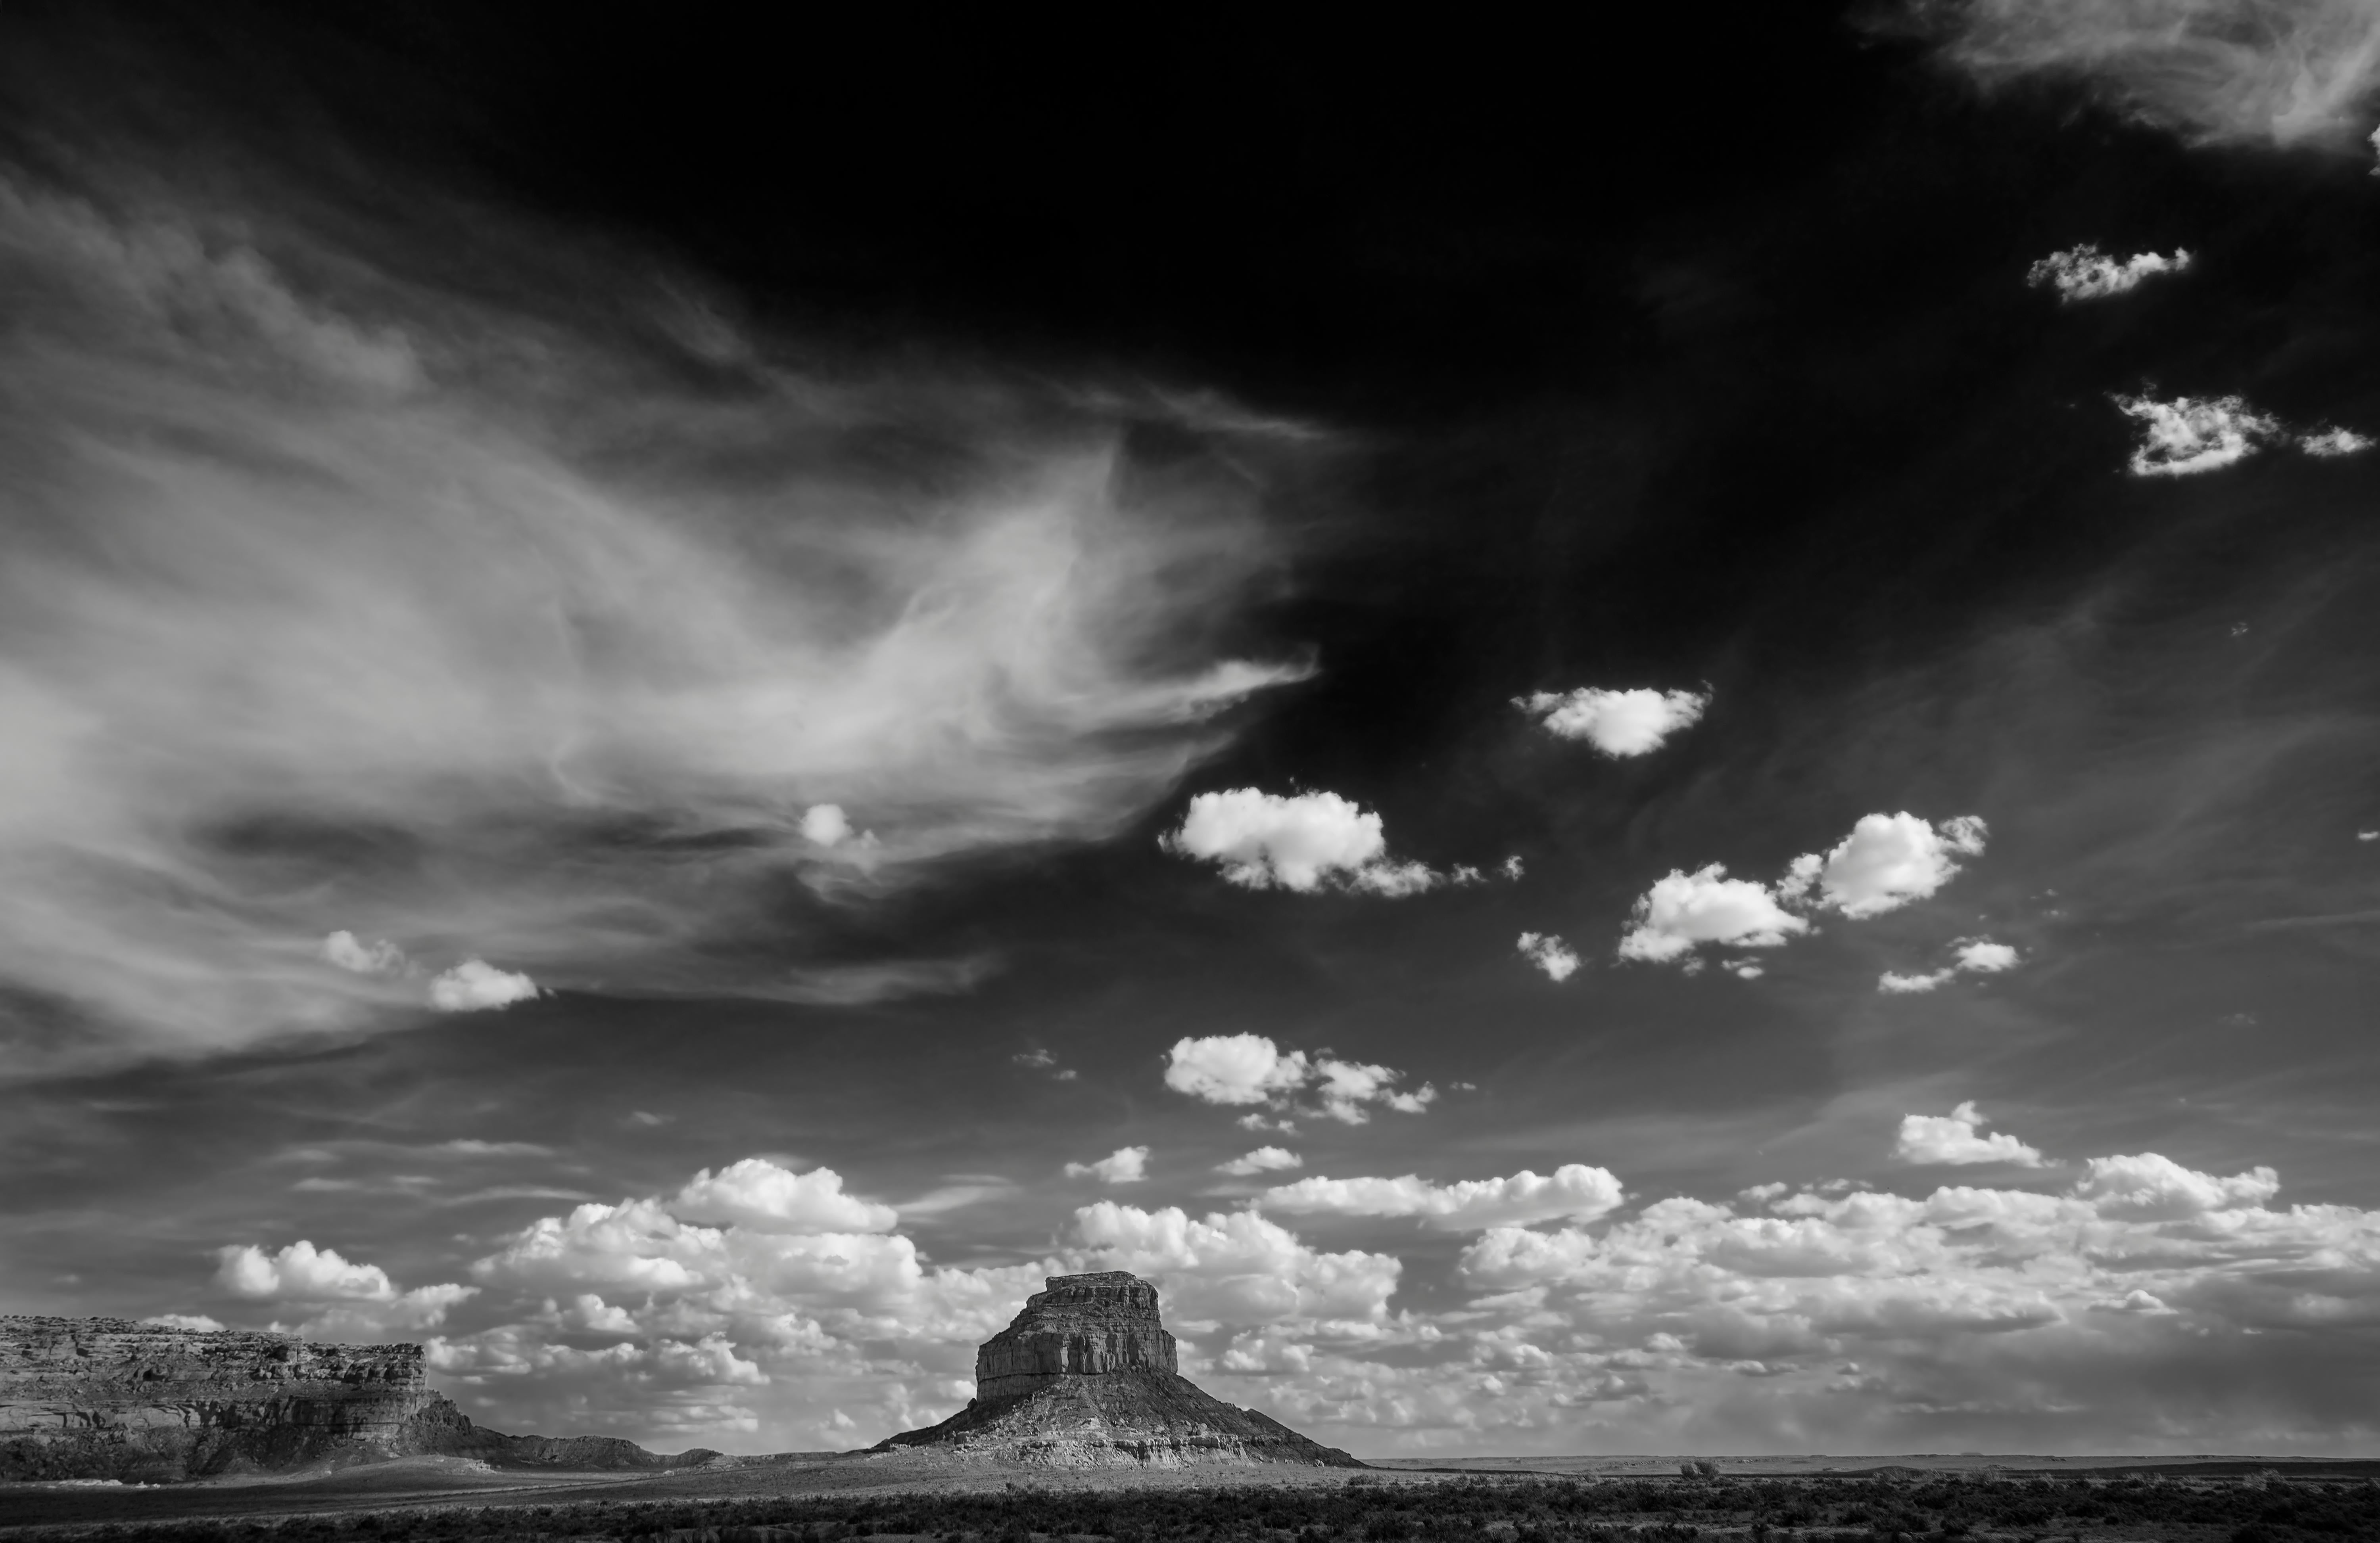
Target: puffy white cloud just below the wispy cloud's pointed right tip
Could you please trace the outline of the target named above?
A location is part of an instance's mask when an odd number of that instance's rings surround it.
[[[1214,862],[1242,888],[1323,888],[1404,898],[1449,883],[1418,862],[1395,862],[1380,817],[1338,793],[1259,793],[1230,788],[1200,793],[1176,831],[1157,843]]]

